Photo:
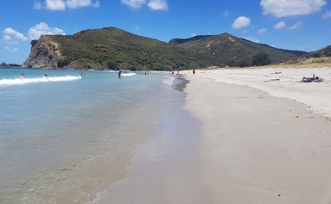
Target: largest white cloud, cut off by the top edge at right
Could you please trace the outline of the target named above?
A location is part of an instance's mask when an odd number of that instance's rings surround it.
[[[321,10],[325,0],[261,0],[263,15],[271,14],[277,18],[286,16],[305,16]]]

